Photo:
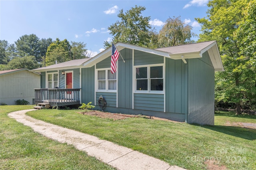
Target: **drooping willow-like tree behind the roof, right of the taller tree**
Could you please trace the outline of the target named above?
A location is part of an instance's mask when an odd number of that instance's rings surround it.
[[[194,42],[191,40],[195,34],[189,26],[180,20],[180,16],[168,18],[158,35],[158,47],[169,47],[174,45]]]

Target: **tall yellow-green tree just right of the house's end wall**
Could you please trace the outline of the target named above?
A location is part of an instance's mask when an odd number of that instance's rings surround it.
[[[199,41],[217,40],[225,69],[215,75],[215,99],[235,103],[237,114],[241,114],[241,105],[250,100],[250,87],[255,85],[255,73],[247,64],[248,58],[241,55],[242,48],[234,38],[247,4],[248,0],[211,0],[208,18],[196,19],[202,24]]]

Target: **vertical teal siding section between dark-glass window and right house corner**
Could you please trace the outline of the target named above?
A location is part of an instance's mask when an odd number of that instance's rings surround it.
[[[186,64],[166,59],[166,112],[186,113]]]

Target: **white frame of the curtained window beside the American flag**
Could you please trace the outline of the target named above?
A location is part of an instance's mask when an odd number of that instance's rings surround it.
[[[105,89],[98,89],[98,71],[105,71]],[[117,81],[117,72],[116,72],[116,79],[108,79],[108,71],[110,71],[109,68],[104,68],[104,69],[96,69],[96,73],[95,73],[95,84],[96,84],[96,91],[97,92],[100,92],[100,91],[104,91],[104,92],[117,92],[117,89],[118,89],[118,81]],[[116,89],[115,90],[110,90],[108,89],[108,81],[113,81],[113,80],[116,80]],[[102,80],[101,80],[102,81]]]

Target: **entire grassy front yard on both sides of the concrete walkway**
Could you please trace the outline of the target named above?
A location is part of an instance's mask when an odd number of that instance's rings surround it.
[[[56,147],[55,145],[63,147],[63,152],[61,149],[63,156],[65,152],[70,152],[70,150],[77,152],[79,155],[82,154],[86,156],[86,154],[76,151],[72,146],[65,146],[64,144],[49,141],[47,138],[33,133],[30,128],[8,118],[7,113],[14,111],[14,109],[2,111],[2,109],[6,109],[5,107],[10,106],[1,106],[0,119],[2,125],[0,140],[3,144],[2,146],[8,146],[1,147],[0,149],[0,166],[3,166],[3,169],[13,164],[12,162],[16,162],[16,165],[18,165],[18,162],[24,162],[22,158],[26,157],[26,153],[23,152],[23,149],[26,148],[25,146],[27,145],[34,150],[34,153],[30,154],[38,155],[37,158],[39,160],[40,156],[44,155],[42,152],[45,152],[45,150],[50,152],[49,150],[51,148],[49,148],[48,142],[54,143],[54,147]],[[27,106],[27,108],[20,109],[30,108]],[[176,165],[186,169],[256,169],[256,129],[237,127],[240,125],[239,123],[255,124],[256,115],[237,116],[230,112],[220,112],[215,115],[215,126],[200,126],[156,120],[154,118],[148,119],[148,117],[144,116],[114,120],[78,112],[81,112],[81,110],[50,109],[32,111],[27,114],[36,119],[78,130],[132,148],[144,154],[164,160],[170,165]],[[3,125],[5,128],[2,128]],[[30,140],[26,140],[25,145],[20,144],[19,141],[24,140],[21,136],[24,136],[24,133],[28,132],[30,134]],[[12,138],[12,140],[9,138]],[[12,147],[10,141],[17,141],[17,143],[14,142],[16,146]],[[33,144],[34,141],[36,141],[40,147]],[[68,150],[65,150],[65,148]],[[6,154],[8,152],[7,149],[10,150],[9,154]],[[58,152],[60,152],[60,149]],[[69,154],[66,158],[62,158],[64,160],[63,162],[66,164],[66,166],[63,167],[74,166],[72,165],[72,161],[65,161],[70,160],[68,156]],[[32,161],[34,157],[28,156],[28,158]],[[77,161],[82,161],[79,158],[80,156],[78,156]],[[43,156],[42,159],[44,161],[40,164],[43,166],[48,166],[47,162],[52,160],[49,156]],[[93,158],[88,159],[92,159],[93,164],[92,168],[89,169],[110,168],[106,165],[102,165],[101,162]],[[56,158],[56,160],[58,160],[58,158]],[[24,165],[26,163],[22,164]],[[54,164],[52,164],[52,166],[56,167]],[[20,166],[20,168],[22,167],[23,166]],[[73,169],[79,169],[78,167],[79,166],[75,166]]]

